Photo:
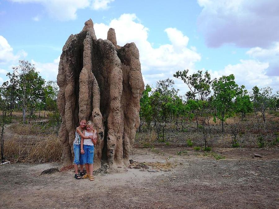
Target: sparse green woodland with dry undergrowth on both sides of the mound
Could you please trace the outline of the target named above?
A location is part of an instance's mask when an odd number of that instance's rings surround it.
[[[25,60],[13,70],[0,89],[2,161],[60,161],[57,84],[46,82]],[[248,92],[234,75],[212,80],[207,71],[178,71],[174,77],[188,86],[185,95],[170,78],[157,81],[155,88],[145,86],[135,147],[181,146],[183,153],[187,146],[210,151],[279,143],[279,91],[255,86]]]

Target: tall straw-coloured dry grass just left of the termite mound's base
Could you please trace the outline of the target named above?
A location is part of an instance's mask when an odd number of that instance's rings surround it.
[[[12,162],[53,162],[62,160],[62,146],[56,135],[50,135],[33,146],[26,146],[13,139],[5,140],[4,156]]]

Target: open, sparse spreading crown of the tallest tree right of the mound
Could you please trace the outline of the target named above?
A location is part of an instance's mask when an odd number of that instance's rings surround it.
[[[179,78],[187,84],[190,91],[186,93],[188,99],[196,100],[197,95],[200,100],[205,100],[206,97],[210,94],[210,74],[205,72],[202,74],[202,71],[199,70],[197,73],[188,75],[189,70],[177,71],[173,76]]]

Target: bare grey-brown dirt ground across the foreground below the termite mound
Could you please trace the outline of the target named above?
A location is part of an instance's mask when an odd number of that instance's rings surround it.
[[[278,149],[222,149],[218,161],[180,149],[135,149],[136,162],[169,162],[168,171],[118,168],[93,182],[75,180],[72,170],[40,175],[57,163],[0,165],[0,207],[278,208]]]

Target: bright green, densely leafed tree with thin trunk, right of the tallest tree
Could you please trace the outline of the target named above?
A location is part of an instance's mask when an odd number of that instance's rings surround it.
[[[222,76],[212,83],[213,105],[216,108],[215,116],[221,120],[222,132],[224,133],[224,121],[234,113],[234,98],[241,94],[245,86],[239,87],[234,81],[234,75]]]

